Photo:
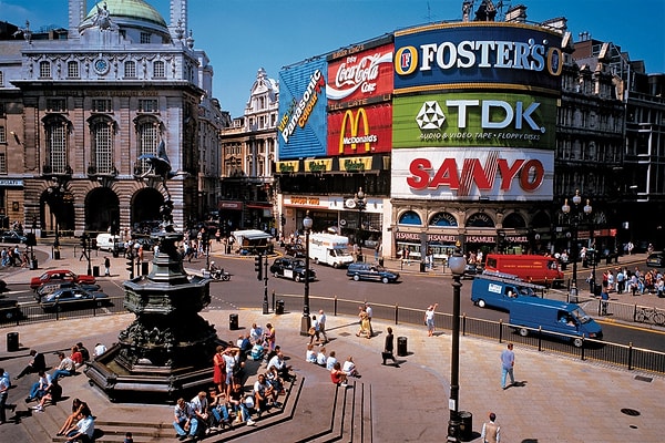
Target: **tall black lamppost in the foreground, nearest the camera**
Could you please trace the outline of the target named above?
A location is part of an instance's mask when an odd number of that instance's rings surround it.
[[[448,441],[459,442],[461,425],[458,413],[460,390],[460,290],[462,288],[461,279],[467,266],[467,260],[459,248],[456,248],[453,255],[448,259],[448,266],[452,271],[452,348],[450,356],[450,399],[448,401],[448,409],[450,410]]]

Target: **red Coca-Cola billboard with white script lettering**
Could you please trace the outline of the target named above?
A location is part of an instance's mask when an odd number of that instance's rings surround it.
[[[392,43],[367,49],[358,44],[328,58],[326,96],[329,106],[365,104],[368,99],[392,94]],[[336,60],[332,58],[338,56]],[[334,107],[332,107],[334,109]]]

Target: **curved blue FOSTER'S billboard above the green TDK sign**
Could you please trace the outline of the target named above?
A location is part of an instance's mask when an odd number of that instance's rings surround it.
[[[443,23],[395,33],[396,92],[469,83],[559,91],[562,66],[561,35],[523,23]]]

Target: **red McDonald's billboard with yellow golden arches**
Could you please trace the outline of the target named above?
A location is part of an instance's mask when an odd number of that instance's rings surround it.
[[[328,113],[328,155],[389,153],[391,145],[390,103]]]

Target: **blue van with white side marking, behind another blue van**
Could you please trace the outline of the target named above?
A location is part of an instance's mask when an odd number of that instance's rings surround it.
[[[510,310],[514,300],[542,297],[544,286],[529,284],[516,276],[502,272],[483,272],[473,279],[471,301],[481,308]]]

